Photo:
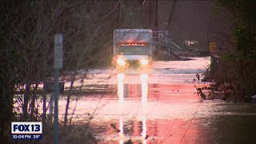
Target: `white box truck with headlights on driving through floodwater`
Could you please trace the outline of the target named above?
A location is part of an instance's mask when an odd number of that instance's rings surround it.
[[[130,67],[152,67],[153,31],[146,29],[114,30],[114,66],[118,70]]]

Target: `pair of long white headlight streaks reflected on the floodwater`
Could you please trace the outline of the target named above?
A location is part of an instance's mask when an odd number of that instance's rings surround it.
[[[118,103],[119,103],[119,109],[124,110],[124,93],[127,92],[127,96],[129,97],[129,86],[124,86],[124,78],[125,74],[118,74]],[[147,95],[148,95],[148,74],[141,74],[141,102],[142,102],[142,133],[140,134],[140,139],[142,140],[143,144],[146,144],[146,104],[147,104]],[[138,95],[136,96],[138,97]],[[134,125],[134,132],[138,130],[139,125]],[[119,143],[123,144],[126,137],[124,134],[124,119],[122,115],[119,117]]]

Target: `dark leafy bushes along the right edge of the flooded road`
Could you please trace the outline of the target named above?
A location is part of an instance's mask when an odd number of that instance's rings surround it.
[[[218,0],[214,14],[227,10],[232,29],[226,46],[212,54],[206,80],[211,89],[224,92],[224,99],[252,102],[256,94],[256,2],[254,0]],[[218,43],[218,42],[217,42]]]

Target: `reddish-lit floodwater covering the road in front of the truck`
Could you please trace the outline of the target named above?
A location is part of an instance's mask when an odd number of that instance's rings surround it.
[[[72,96],[70,123],[91,118],[102,143],[256,143],[254,103],[201,102],[198,97],[195,86],[209,83],[195,75],[202,78],[209,64],[210,58],[193,58],[154,62],[148,73],[89,70],[83,82],[74,82],[90,91]],[[66,97],[58,105],[62,122]]]

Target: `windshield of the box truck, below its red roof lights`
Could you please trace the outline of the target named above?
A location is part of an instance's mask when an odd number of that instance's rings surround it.
[[[120,46],[118,53],[122,55],[147,55],[146,46]]]

